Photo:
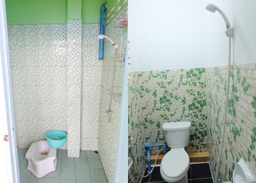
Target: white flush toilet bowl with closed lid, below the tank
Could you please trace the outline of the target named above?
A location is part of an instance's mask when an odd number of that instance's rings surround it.
[[[164,155],[160,173],[166,182],[188,182],[189,156],[184,148],[173,148]]]

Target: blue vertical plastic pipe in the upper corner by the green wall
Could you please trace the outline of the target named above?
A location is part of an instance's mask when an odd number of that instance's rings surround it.
[[[102,4],[100,6],[100,35],[104,35],[105,33],[105,11],[106,11],[106,4]],[[103,59],[104,54],[104,39],[99,40],[99,60]]]

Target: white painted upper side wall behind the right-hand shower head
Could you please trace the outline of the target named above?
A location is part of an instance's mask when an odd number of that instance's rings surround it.
[[[256,62],[256,1],[205,0],[205,4],[219,6],[235,29],[234,60],[238,63]],[[220,15],[207,13],[206,33],[209,63],[227,65],[228,43],[225,23]],[[211,43],[211,44],[209,44]]]

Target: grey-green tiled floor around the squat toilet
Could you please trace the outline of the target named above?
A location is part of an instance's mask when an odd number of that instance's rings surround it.
[[[108,183],[100,157],[94,151],[81,151],[80,158],[74,158],[67,157],[67,150],[58,150],[56,171],[38,179],[26,168],[27,150],[18,149],[20,183]]]

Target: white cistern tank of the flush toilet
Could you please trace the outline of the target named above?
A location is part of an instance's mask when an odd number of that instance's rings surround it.
[[[164,137],[170,148],[188,146],[191,122],[163,123]]]

